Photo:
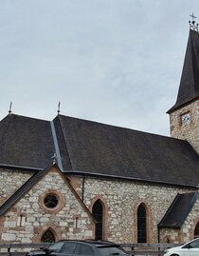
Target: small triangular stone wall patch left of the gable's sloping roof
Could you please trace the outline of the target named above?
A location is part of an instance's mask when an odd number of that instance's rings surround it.
[[[0,206],[32,175],[28,171],[0,168]]]

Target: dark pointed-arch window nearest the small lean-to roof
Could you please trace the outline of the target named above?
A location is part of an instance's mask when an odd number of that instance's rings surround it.
[[[144,204],[137,208],[137,243],[147,243],[147,218]]]

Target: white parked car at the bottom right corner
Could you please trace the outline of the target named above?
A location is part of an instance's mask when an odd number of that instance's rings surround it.
[[[165,250],[164,256],[198,256],[199,238],[196,238],[183,246],[176,246]]]

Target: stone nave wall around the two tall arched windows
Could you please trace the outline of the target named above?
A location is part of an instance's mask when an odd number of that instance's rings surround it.
[[[76,186],[81,182],[81,178],[76,178],[76,181],[72,179]],[[103,204],[106,228],[104,239],[116,243],[136,243],[136,210],[139,204],[144,203],[147,208],[148,243],[157,243],[158,222],[171,206],[176,194],[189,191],[133,181],[86,178],[84,204],[91,211],[96,200],[99,199]]]

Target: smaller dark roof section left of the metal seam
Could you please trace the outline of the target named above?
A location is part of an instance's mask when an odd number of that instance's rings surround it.
[[[55,149],[48,121],[7,115],[0,122],[0,165],[43,169]]]

